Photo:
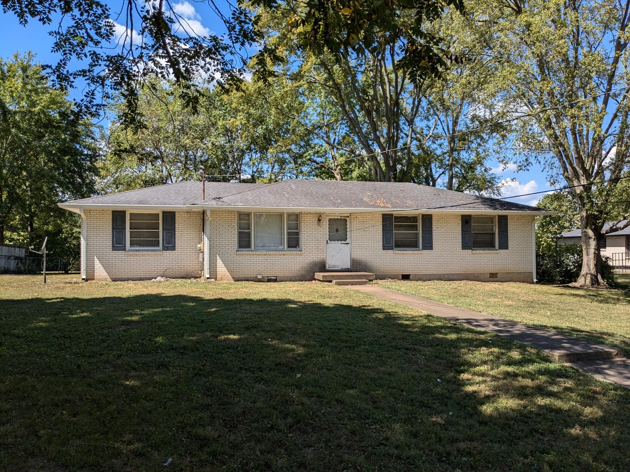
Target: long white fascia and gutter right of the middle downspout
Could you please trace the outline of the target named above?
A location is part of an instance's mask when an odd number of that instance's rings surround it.
[[[188,208],[194,208],[197,205],[189,206]],[[348,213],[431,213],[437,214],[457,214],[457,215],[555,215],[556,211],[521,211],[521,210],[471,210],[466,208],[458,208],[457,210],[427,210],[417,208],[383,208],[382,210],[375,210],[374,208],[311,208],[311,207],[297,207],[297,206],[235,206],[235,205],[212,205],[202,206],[201,208],[207,210],[229,210],[229,211],[299,211],[304,213],[324,213],[326,215],[336,214],[348,214]]]

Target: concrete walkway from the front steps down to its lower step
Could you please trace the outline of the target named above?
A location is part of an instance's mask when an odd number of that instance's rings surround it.
[[[621,349],[605,346],[605,344],[597,344],[587,339],[547,331],[493,315],[486,315],[486,313],[445,305],[445,303],[408,295],[407,293],[382,288],[378,285],[351,286],[349,288],[371,293],[386,300],[396,301],[423,312],[431,313],[437,317],[449,318],[471,328],[490,331],[500,336],[524,342],[548,352],[559,362],[599,361],[624,357],[624,352]]]

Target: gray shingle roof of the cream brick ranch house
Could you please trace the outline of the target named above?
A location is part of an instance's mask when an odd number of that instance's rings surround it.
[[[545,212],[536,206],[411,183],[285,180],[273,184],[180,182],[66,202],[83,205],[236,206],[370,210]]]

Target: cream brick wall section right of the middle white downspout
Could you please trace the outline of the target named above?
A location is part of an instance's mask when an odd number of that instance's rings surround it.
[[[302,213],[302,250],[239,252],[236,250],[236,211],[210,213],[210,277],[217,280],[255,280],[258,274],[279,280],[311,280],[326,270],[326,217]],[[533,216],[509,216],[508,250],[461,249],[461,216],[433,215],[433,250],[382,250],[381,215],[350,215],[352,270],[377,278],[490,279],[532,281]],[[495,279],[493,279],[495,280]]]

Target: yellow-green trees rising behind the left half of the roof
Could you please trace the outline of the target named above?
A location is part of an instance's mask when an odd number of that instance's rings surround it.
[[[290,176],[285,169],[301,166],[308,155],[308,134],[292,128],[290,116],[301,104],[290,89],[260,82],[231,91],[204,88],[195,113],[178,84],[154,81],[151,93],[139,95],[143,125],[112,121],[103,137],[103,191],[199,179],[202,170],[214,181],[261,181],[261,174],[273,180]],[[114,115],[126,106],[115,103]]]

